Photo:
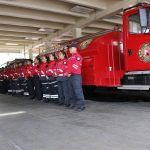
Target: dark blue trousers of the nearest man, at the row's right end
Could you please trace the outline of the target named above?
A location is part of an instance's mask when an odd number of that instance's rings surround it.
[[[85,107],[81,75],[71,75],[68,80],[70,103],[72,106]]]

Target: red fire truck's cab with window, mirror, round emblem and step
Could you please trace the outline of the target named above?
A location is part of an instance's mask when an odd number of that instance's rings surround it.
[[[150,5],[139,4],[123,15],[124,76],[119,89],[150,88]]]

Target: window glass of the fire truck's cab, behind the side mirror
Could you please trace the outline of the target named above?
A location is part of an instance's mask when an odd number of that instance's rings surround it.
[[[150,32],[150,10],[147,11],[148,27],[142,29],[140,24],[139,13],[129,16],[129,33],[130,34],[142,34]]]

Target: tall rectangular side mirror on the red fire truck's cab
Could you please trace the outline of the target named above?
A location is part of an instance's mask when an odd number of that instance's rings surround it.
[[[147,20],[147,12],[146,9],[139,9],[140,14],[140,23],[142,28],[147,28],[148,26],[148,20]]]

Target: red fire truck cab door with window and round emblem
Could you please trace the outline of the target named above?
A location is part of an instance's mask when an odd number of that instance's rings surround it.
[[[138,10],[124,15],[124,56],[127,71],[150,70],[150,33],[141,28]]]

